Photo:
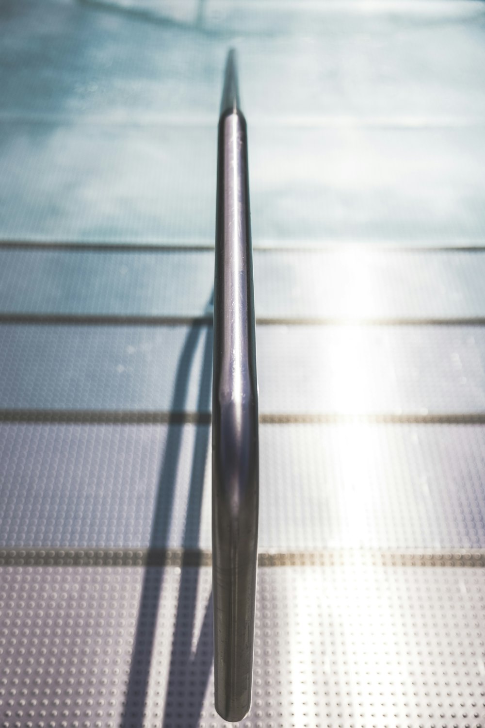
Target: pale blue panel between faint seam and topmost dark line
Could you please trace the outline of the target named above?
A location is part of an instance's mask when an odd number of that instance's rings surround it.
[[[5,122],[0,240],[212,245],[216,127]],[[250,127],[258,245],[483,245],[481,127]],[[398,174],[396,174],[398,170]]]

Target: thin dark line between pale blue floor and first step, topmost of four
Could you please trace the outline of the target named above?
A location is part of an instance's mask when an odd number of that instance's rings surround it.
[[[89,252],[98,251],[101,253],[192,253],[192,252],[210,252],[213,253],[215,246],[212,243],[182,243],[176,242],[81,242],[79,240],[73,242],[63,242],[55,240],[0,240],[1,248],[18,248],[34,250],[65,250],[79,252],[85,250]],[[288,245],[272,245],[271,243],[253,243],[253,250],[257,253],[339,253],[342,250],[356,251],[372,251],[382,253],[485,253],[485,240],[482,242],[449,242],[446,243],[425,243],[416,242],[414,245],[406,245],[401,242],[345,242],[342,240],[327,241],[324,244],[309,245],[308,243],[289,243]]]

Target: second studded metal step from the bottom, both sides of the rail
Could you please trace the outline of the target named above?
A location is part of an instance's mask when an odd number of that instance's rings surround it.
[[[485,426],[260,427],[261,550],[485,548]],[[0,425],[0,547],[211,548],[208,426]]]

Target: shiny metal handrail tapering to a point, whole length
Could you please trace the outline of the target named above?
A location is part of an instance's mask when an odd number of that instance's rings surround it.
[[[220,110],[212,401],[212,580],[215,707],[251,705],[256,601],[258,430],[246,121],[234,52]]]

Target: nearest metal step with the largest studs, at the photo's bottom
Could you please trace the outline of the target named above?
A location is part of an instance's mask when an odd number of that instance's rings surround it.
[[[484,569],[260,568],[240,728],[482,728]],[[222,728],[210,569],[2,568],[4,728]],[[178,606],[177,606],[178,605]]]

